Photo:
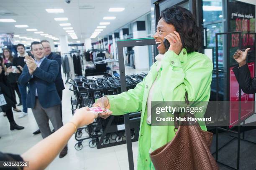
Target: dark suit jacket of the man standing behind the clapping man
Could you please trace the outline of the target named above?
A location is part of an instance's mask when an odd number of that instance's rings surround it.
[[[54,83],[56,85],[57,91],[58,92],[62,91],[63,89],[65,89],[65,87],[64,87],[63,80],[61,77],[61,56],[56,53],[51,52],[51,54],[47,58],[49,60],[55,60],[59,63],[59,73],[58,73]]]

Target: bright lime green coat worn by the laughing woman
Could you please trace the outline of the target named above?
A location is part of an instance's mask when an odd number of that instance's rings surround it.
[[[113,115],[141,110],[138,170],[154,170],[149,153],[174,138],[174,126],[150,126],[146,122],[148,92],[154,80],[154,101],[184,101],[185,91],[190,101],[208,101],[210,98],[212,61],[206,55],[198,52],[187,54],[185,48],[179,55],[169,50],[164,54],[159,72],[156,71],[157,65],[156,61],[135,89],[107,96]],[[206,126],[201,128],[207,130]]]

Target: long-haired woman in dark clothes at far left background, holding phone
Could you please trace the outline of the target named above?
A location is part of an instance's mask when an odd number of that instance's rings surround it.
[[[18,74],[20,71],[18,69],[15,69],[13,66],[13,55],[11,54],[10,50],[8,48],[3,49],[3,64],[4,64],[4,69],[5,69],[5,75],[7,76],[7,80],[11,86],[11,91],[12,95],[14,98],[14,102],[16,102],[16,97],[15,97],[15,91],[18,94],[18,97],[20,99],[20,103],[18,105],[21,105],[21,96],[20,96],[20,91],[18,88]],[[13,110],[16,112],[21,112],[18,108],[16,108],[16,105],[13,106]]]

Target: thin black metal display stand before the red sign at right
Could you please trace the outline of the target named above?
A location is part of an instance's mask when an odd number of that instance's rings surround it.
[[[215,51],[215,53],[216,53],[216,82],[217,82],[217,87],[216,87],[216,101],[218,101],[218,93],[219,93],[219,69],[218,69],[218,35],[227,35],[227,42],[228,42],[228,49],[229,49],[229,46],[230,46],[230,34],[239,34],[239,38],[240,38],[240,41],[239,41],[239,49],[241,49],[241,31],[239,31],[239,32],[223,32],[223,33],[216,33],[215,35],[215,43],[216,43],[216,51]],[[255,39],[255,41],[256,41],[256,39]],[[227,68],[229,69],[229,67],[230,67],[230,63],[229,63],[229,56],[230,54],[229,54],[229,50],[227,50]],[[254,61],[254,64],[255,64],[255,61]],[[228,71],[228,80],[229,80],[229,77],[230,77],[230,75],[229,75],[230,73],[229,73],[229,71]],[[229,86],[230,86],[230,84],[229,84],[229,81],[228,81],[228,83],[227,83],[228,85],[227,85],[227,89],[228,89],[228,92],[229,92]],[[229,95],[228,95],[228,98],[229,98]],[[255,99],[255,98],[254,98]],[[241,87],[240,87],[240,85],[239,85],[239,106],[238,106],[238,126],[234,126],[234,127],[237,127],[238,128],[238,130],[237,131],[234,131],[234,130],[229,130],[228,128],[227,129],[225,129],[225,128],[221,128],[221,127],[218,127],[218,126],[216,126],[216,151],[214,152],[214,153],[216,153],[216,157],[215,157],[215,159],[216,159],[216,162],[218,162],[218,163],[220,163],[221,165],[224,165],[225,167],[227,167],[227,168],[230,168],[230,169],[232,169],[232,170],[239,170],[239,168],[240,168],[240,142],[241,142],[241,140],[243,140],[243,141],[245,141],[245,142],[248,142],[248,143],[253,143],[253,144],[255,144],[256,145],[256,143],[254,143],[254,142],[252,142],[252,141],[249,141],[249,140],[245,140],[244,139],[244,132],[243,132],[243,137],[242,137],[242,139],[241,139],[241,126],[240,126],[240,124],[241,124]],[[216,109],[216,114],[217,114],[217,117],[218,117],[218,105],[217,105],[217,109]],[[253,113],[253,114],[255,114],[255,113]],[[253,114],[251,114],[251,115],[253,115]],[[246,119],[245,119],[246,120]],[[243,120],[243,122],[245,122],[245,120]],[[233,127],[233,128],[234,128]],[[234,138],[232,138],[231,140],[229,140],[227,143],[225,143],[222,147],[220,147],[220,148],[218,148],[218,138],[219,138],[219,135],[218,135],[218,130],[223,130],[223,131],[225,131],[225,132],[230,132],[230,133],[234,133],[234,134],[237,134],[237,137],[234,137]],[[236,168],[233,168],[233,167],[231,167],[231,166],[229,166],[229,165],[226,165],[225,163],[222,163],[222,162],[220,162],[220,161],[218,161],[218,151],[220,150],[220,149],[222,149],[222,148],[224,148],[226,145],[228,145],[230,142],[232,142],[234,139],[237,139],[238,140],[238,142],[237,142],[237,162],[236,162]],[[214,153],[212,153],[212,154],[214,154]]]

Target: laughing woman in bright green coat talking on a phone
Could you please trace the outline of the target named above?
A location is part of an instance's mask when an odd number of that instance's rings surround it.
[[[164,38],[170,42],[166,51]],[[174,126],[151,126],[150,101],[208,101],[212,80],[212,62],[200,48],[200,29],[192,13],[183,7],[169,7],[161,12],[154,39],[159,50],[148,75],[133,90],[105,96],[94,106],[111,112],[102,117],[141,110],[138,141],[138,170],[154,170],[149,153],[174,138]],[[201,126],[207,130],[206,126]],[[175,166],[175,165],[174,165]]]

